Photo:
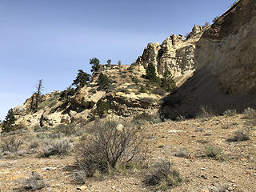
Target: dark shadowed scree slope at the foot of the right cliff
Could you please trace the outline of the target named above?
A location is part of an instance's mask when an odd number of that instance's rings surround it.
[[[219,88],[218,79],[210,70],[196,70],[174,94],[163,99],[159,113],[162,118],[195,118],[203,106],[209,107],[215,114],[233,109],[241,112],[249,106],[256,108],[256,94],[226,94]]]

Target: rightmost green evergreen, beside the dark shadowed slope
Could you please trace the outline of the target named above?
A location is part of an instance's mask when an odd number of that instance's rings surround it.
[[[171,92],[177,88],[174,76],[170,73],[170,70],[166,70],[161,79],[161,88]]]

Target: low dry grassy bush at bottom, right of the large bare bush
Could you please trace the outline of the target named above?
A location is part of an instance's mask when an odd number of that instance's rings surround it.
[[[182,178],[169,161],[160,159],[150,167],[143,182],[146,186],[157,186],[158,190],[166,190],[170,186],[178,186]]]

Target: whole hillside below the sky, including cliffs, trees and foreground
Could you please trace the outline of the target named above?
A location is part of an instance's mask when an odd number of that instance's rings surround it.
[[[0,191],[256,191],[255,41],[240,0],[130,66],[34,93],[1,124]]]

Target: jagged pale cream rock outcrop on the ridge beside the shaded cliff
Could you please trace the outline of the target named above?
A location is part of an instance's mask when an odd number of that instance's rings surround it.
[[[149,43],[142,56],[136,63],[145,68],[151,62],[156,67],[158,74],[170,70],[175,78],[182,78],[186,73],[194,70],[194,50],[196,42],[202,35],[203,26],[194,26],[192,32],[185,40],[182,35],[170,35],[162,42]]]

